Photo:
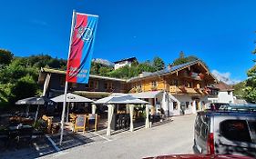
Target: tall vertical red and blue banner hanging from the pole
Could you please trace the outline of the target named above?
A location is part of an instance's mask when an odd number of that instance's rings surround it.
[[[97,15],[75,13],[70,53],[67,60],[67,82],[88,83],[97,18]]]

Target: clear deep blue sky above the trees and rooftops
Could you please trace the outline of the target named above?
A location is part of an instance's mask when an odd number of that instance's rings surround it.
[[[169,64],[182,50],[240,81],[256,58],[255,6],[254,0],[8,0],[1,2],[0,48],[67,59],[76,9],[99,15],[94,58],[158,55]]]

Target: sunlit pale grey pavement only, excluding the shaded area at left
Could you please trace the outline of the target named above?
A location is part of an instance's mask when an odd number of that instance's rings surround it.
[[[41,158],[132,159],[162,154],[191,154],[195,115],[178,116],[173,119],[173,122],[154,126],[151,129],[138,129],[132,133],[123,132],[110,137],[105,134],[102,136],[95,134],[95,137],[102,140],[48,154]]]

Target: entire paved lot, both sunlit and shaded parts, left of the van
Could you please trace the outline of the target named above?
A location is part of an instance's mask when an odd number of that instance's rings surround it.
[[[173,117],[172,122],[150,129],[120,131],[111,136],[106,130],[73,134],[67,132],[63,144],[59,135],[43,136],[29,147],[1,151],[0,158],[142,158],[162,154],[192,154],[195,115]],[[54,145],[55,144],[55,145]]]

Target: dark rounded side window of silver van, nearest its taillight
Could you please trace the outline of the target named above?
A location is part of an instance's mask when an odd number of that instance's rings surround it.
[[[231,141],[251,143],[251,134],[245,120],[226,120],[220,123],[220,134]]]

